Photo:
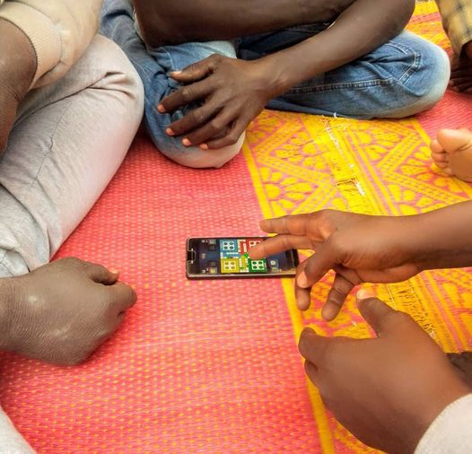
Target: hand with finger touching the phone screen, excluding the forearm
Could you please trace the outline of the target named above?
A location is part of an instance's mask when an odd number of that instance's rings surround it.
[[[277,236],[249,250],[263,258],[287,249],[315,249],[297,269],[295,293],[300,310],[310,307],[310,289],[330,269],[336,271],[322,314],[337,316],[355,285],[405,281],[421,271],[415,254],[415,216],[369,216],[324,210],[260,223]]]

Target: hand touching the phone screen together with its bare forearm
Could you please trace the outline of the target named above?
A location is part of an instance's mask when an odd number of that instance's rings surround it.
[[[472,202],[414,216],[369,216],[324,210],[261,221],[277,236],[249,249],[263,258],[288,249],[313,249],[297,269],[299,309],[310,307],[310,289],[330,269],[336,271],[322,314],[337,316],[357,284],[405,281],[424,269],[472,265],[469,226]]]

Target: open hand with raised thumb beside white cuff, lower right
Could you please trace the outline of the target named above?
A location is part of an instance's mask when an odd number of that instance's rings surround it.
[[[377,338],[327,338],[306,328],[299,345],[305,370],[359,440],[389,453],[413,452],[436,416],[470,389],[408,315],[374,298],[358,304]]]

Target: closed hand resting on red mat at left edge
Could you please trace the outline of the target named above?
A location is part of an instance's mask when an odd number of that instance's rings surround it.
[[[56,364],[83,362],[135,303],[135,292],[117,281],[118,274],[78,258],[2,279],[0,347]]]

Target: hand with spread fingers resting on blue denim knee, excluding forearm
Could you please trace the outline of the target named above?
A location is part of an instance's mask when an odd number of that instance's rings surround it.
[[[264,58],[243,61],[214,54],[170,75],[187,85],[162,100],[161,113],[203,103],[167,130],[169,135],[184,135],[182,144],[186,146],[200,145],[207,150],[235,144],[272,98],[274,73],[269,72]]]

